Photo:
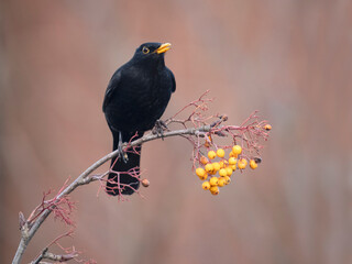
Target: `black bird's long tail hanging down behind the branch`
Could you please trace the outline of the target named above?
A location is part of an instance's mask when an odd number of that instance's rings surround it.
[[[113,133],[113,151],[119,147],[119,133]],[[133,140],[143,135],[139,134]],[[122,140],[129,141],[133,134],[122,133]],[[132,195],[140,187],[140,154],[142,146],[135,146],[134,150],[128,150],[128,161],[122,157],[111,160],[111,168],[113,172],[109,174],[107,182],[107,193],[112,196]]]

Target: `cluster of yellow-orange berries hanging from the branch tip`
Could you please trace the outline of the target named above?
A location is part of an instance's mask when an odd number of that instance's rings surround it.
[[[233,172],[239,169],[244,169],[248,165],[248,160],[244,157],[239,158],[242,153],[242,147],[240,145],[232,146],[232,151],[229,154],[229,158],[226,158],[226,153],[223,148],[218,148],[217,152],[209,151],[208,158],[206,156],[200,157],[200,164],[202,167],[196,169],[196,175],[205,180],[202,183],[202,188],[205,190],[210,190],[212,195],[219,194],[219,187],[223,187],[231,183],[231,175]],[[220,157],[219,162],[210,162],[216,157]],[[255,169],[260,158],[250,160],[250,167]],[[219,173],[219,177],[216,174]]]

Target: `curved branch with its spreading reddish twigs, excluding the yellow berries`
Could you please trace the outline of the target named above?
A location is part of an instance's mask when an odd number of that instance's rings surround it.
[[[182,129],[167,130],[163,133],[156,134],[147,133],[140,139],[136,139],[135,135],[128,143],[124,143],[122,145],[122,148],[127,152],[138,153],[135,147],[146,142],[168,136],[183,136],[187,139],[187,141],[190,142],[194,146],[193,160],[194,167],[196,167],[196,164],[200,163],[200,157],[204,152],[208,151],[210,147],[215,147],[216,150],[218,150],[221,146],[213,140],[215,138],[220,136],[231,139],[230,143],[228,142],[222,146],[224,148],[231,147],[231,145],[234,143],[240,143],[245,151],[245,153],[241,154],[244,157],[251,157],[254,154],[258,155],[260,150],[263,147],[261,145],[261,141],[266,141],[268,138],[267,132],[263,129],[263,127],[266,124],[266,121],[260,120],[260,118],[257,117],[257,112],[254,112],[248,119],[245,119],[241,123],[241,125],[226,125],[224,122],[228,120],[226,116],[206,114],[207,110],[209,109],[208,105],[213,100],[207,98],[208,92],[209,91],[206,91],[197,100],[191,101],[190,103],[182,108],[165,122],[168,127],[180,125]],[[182,119],[182,114],[186,116],[186,118]],[[22,235],[12,264],[20,263],[28,244],[30,243],[36,231],[40,229],[42,223],[45,221],[45,219],[52,212],[54,212],[55,218],[63,220],[68,226],[74,224],[70,219],[70,213],[75,208],[75,204],[69,199],[68,195],[77,187],[99,180],[99,193],[102,188],[105,188],[102,186],[105,186],[107,180],[117,180],[116,183],[118,183],[118,189],[120,191],[119,199],[124,200],[123,196],[121,195],[121,189],[125,187],[125,185],[120,183],[119,176],[125,173],[131,175],[132,177],[140,178],[141,173],[139,167],[130,169],[129,172],[114,172],[117,174],[116,179],[105,179],[105,177],[110,172],[112,172],[111,168],[105,174],[91,175],[92,172],[95,172],[97,168],[99,168],[101,165],[113,157],[120,158],[119,150],[101,157],[99,161],[88,167],[84,173],[81,173],[73,183],[69,184],[68,180],[66,180],[64,186],[59,189],[59,191],[53,199],[45,200],[51,191],[44,194],[42,202],[32,211],[28,219],[25,219],[23,213],[20,212],[20,228]],[[144,185],[147,186],[148,183],[143,184],[143,186]],[[132,186],[129,187],[133,188]],[[138,190],[135,191],[139,194]],[[48,256],[47,254],[47,251],[43,251],[42,257]],[[55,257],[56,256],[53,256],[53,258],[48,260],[54,260]]]

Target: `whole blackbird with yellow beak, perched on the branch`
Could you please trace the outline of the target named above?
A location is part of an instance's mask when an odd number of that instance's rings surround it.
[[[174,74],[164,62],[169,48],[169,43],[142,44],[131,61],[112,75],[108,85],[102,111],[112,133],[113,151],[120,151],[118,161],[111,161],[112,170],[121,172],[109,174],[109,195],[132,195],[140,187],[135,176],[140,172],[140,155],[132,150],[123,155],[121,146],[122,142],[129,142],[132,136],[139,139],[154,128],[176,89]],[[135,151],[141,153],[141,145]],[[134,175],[131,175],[132,168],[136,168]]]

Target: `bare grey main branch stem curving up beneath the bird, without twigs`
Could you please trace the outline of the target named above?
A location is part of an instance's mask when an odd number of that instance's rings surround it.
[[[136,145],[144,144],[148,141],[157,140],[157,139],[165,139],[169,136],[175,135],[197,135],[202,136],[205,133],[210,132],[212,130],[213,124],[204,125],[200,128],[190,128],[190,129],[184,129],[184,130],[175,130],[175,131],[168,131],[164,132],[163,134],[153,134],[148,133],[144,135],[143,138],[132,141],[130,143],[124,143],[123,148],[125,147],[133,147]],[[119,151],[114,151],[109,153],[108,155],[101,157],[99,161],[94,163],[90,167],[88,167],[82,174],[80,174],[72,184],[69,184],[64,190],[62,190],[56,197],[55,200],[59,200],[64,198],[65,196],[69,195],[72,191],[74,191],[78,186],[87,185],[96,178],[89,177],[92,172],[95,172],[97,168],[99,168],[101,165],[103,165],[106,162],[110,161],[111,158],[119,155]],[[30,241],[36,233],[36,231],[40,229],[42,223],[45,221],[45,219],[52,213],[52,211],[55,209],[55,202],[53,202],[53,206],[50,208],[46,208],[43,210],[35,220],[28,221],[24,219],[23,215],[20,213],[20,229],[21,229],[21,241],[18,246],[18,250],[15,252],[15,255],[13,257],[12,264],[19,264],[22,260],[22,256],[24,254],[24,251],[26,246],[29,245]],[[43,252],[43,255],[45,253]]]

